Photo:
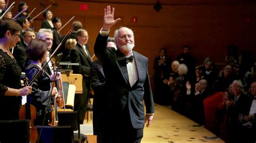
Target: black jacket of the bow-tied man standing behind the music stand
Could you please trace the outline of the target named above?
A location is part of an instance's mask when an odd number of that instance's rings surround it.
[[[79,66],[72,66],[72,70],[74,74],[83,75],[83,90],[87,92],[90,89],[89,73],[91,59],[86,55],[83,47],[81,47],[78,43],[70,52],[70,61],[72,63],[80,63]]]

